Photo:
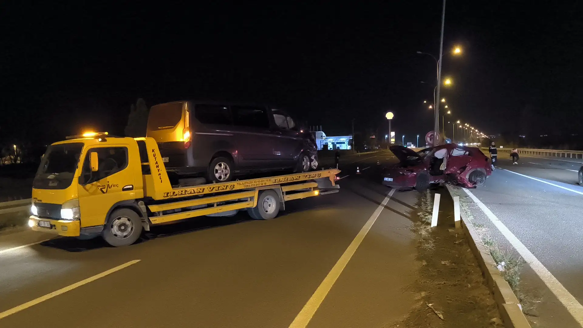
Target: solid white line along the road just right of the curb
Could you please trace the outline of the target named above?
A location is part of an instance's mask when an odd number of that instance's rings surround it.
[[[466,194],[468,194],[469,197],[472,198],[473,201],[476,202],[484,214],[487,215],[490,221],[492,221],[492,223],[496,226],[496,228],[498,228],[504,237],[508,239],[511,245],[514,246],[514,249],[518,251],[518,253],[522,256],[526,263],[528,263],[532,270],[535,271],[536,275],[538,275],[539,278],[545,282],[545,285],[549,287],[550,291],[552,291],[553,294],[557,296],[557,299],[563,303],[569,313],[571,313],[575,320],[577,320],[577,322],[583,327],[583,306],[577,302],[577,299],[575,299],[573,295],[567,291],[567,288],[563,287],[559,280],[557,280],[557,278],[555,278],[554,275],[550,273],[550,271],[547,270],[547,268],[543,266],[542,263],[540,263],[534,254],[532,254],[531,251],[528,250],[520,240],[518,240],[514,233],[506,228],[502,221],[500,221],[500,219],[498,219],[496,215],[494,215],[494,213],[492,213],[492,211],[490,211],[490,209],[484,205],[484,203],[477,199],[477,197],[468,189],[462,189],[466,192]]]

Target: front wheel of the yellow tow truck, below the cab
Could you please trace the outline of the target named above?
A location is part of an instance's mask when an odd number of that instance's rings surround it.
[[[141,233],[142,220],[139,215],[129,208],[120,208],[111,212],[101,236],[109,245],[120,247],[132,245]]]

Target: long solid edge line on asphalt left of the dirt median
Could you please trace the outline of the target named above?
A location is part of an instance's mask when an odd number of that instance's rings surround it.
[[[360,229],[360,232],[356,235],[356,237],[354,237],[352,243],[350,243],[342,256],[340,256],[340,259],[338,259],[336,264],[334,264],[332,270],[330,270],[328,275],[326,275],[314,294],[312,294],[310,299],[308,299],[308,302],[305,303],[304,307],[301,309],[300,313],[298,313],[296,319],[294,319],[290,324],[289,328],[305,328],[308,323],[310,323],[312,316],[314,316],[314,313],[316,313],[316,310],[318,310],[322,301],[324,301],[324,298],[326,295],[328,295],[332,285],[334,282],[336,282],[340,276],[340,273],[342,273],[342,270],[344,270],[346,264],[354,255],[354,252],[356,252],[356,249],[360,246],[364,236],[366,236],[374,222],[377,221],[377,218],[381,214],[382,209],[385,208],[385,205],[387,205],[387,202],[389,199],[391,199],[391,196],[393,196],[394,193],[395,189],[392,189],[387,197],[385,197],[385,199],[382,201],[381,205],[378,205],[377,210],[374,211],[373,215],[370,216],[366,224],[364,224],[362,229]]]

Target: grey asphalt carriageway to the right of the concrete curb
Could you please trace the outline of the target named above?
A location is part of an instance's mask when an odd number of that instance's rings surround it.
[[[499,157],[498,167],[486,184],[471,192],[578,303],[583,303],[583,187],[577,183],[577,171],[583,163],[521,156],[519,164],[512,165],[506,155]],[[475,207],[472,212],[503,249],[515,252],[482,211]],[[524,291],[539,303],[531,316],[539,327],[581,326],[543,283],[545,277],[526,264],[521,277]]]

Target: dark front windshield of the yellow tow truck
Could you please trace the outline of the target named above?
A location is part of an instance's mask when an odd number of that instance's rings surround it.
[[[33,180],[34,189],[66,189],[71,186],[82,142],[48,146]]]

